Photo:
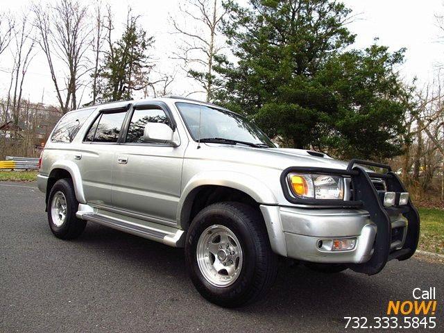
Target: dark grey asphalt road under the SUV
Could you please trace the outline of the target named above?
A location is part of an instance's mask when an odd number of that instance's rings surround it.
[[[416,287],[437,287],[431,331],[443,332],[442,264],[395,261],[373,277],[282,264],[266,300],[228,310],[200,298],[180,249],[92,223],[56,239],[33,183],[0,182],[0,226],[0,332],[342,332],[344,316],[384,316]]]

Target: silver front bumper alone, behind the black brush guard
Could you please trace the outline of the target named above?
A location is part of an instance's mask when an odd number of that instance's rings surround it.
[[[272,241],[276,253],[307,262],[362,264],[373,254],[377,226],[365,210],[305,209],[293,207],[261,206],[266,216],[268,233],[282,233],[284,246]],[[407,219],[402,214],[389,215],[391,228],[397,237],[391,241],[391,250],[404,246]],[[273,218],[271,222],[269,218]],[[280,230],[279,230],[280,229]],[[319,246],[334,239],[356,239],[352,250],[334,251]],[[276,238],[275,238],[276,239]],[[274,243],[274,244],[273,244]]]

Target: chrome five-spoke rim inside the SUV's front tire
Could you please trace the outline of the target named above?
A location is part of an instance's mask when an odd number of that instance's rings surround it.
[[[223,225],[212,225],[200,234],[196,257],[200,273],[216,287],[228,287],[239,278],[242,248],[234,233]]]

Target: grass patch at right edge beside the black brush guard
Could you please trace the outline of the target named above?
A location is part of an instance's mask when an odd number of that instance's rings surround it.
[[[444,254],[444,210],[420,207],[420,250]]]

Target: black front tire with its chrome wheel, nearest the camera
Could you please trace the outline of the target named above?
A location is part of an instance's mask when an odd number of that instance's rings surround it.
[[[185,244],[187,270],[204,298],[239,307],[266,294],[277,273],[262,215],[241,203],[215,203],[193,219]]]

